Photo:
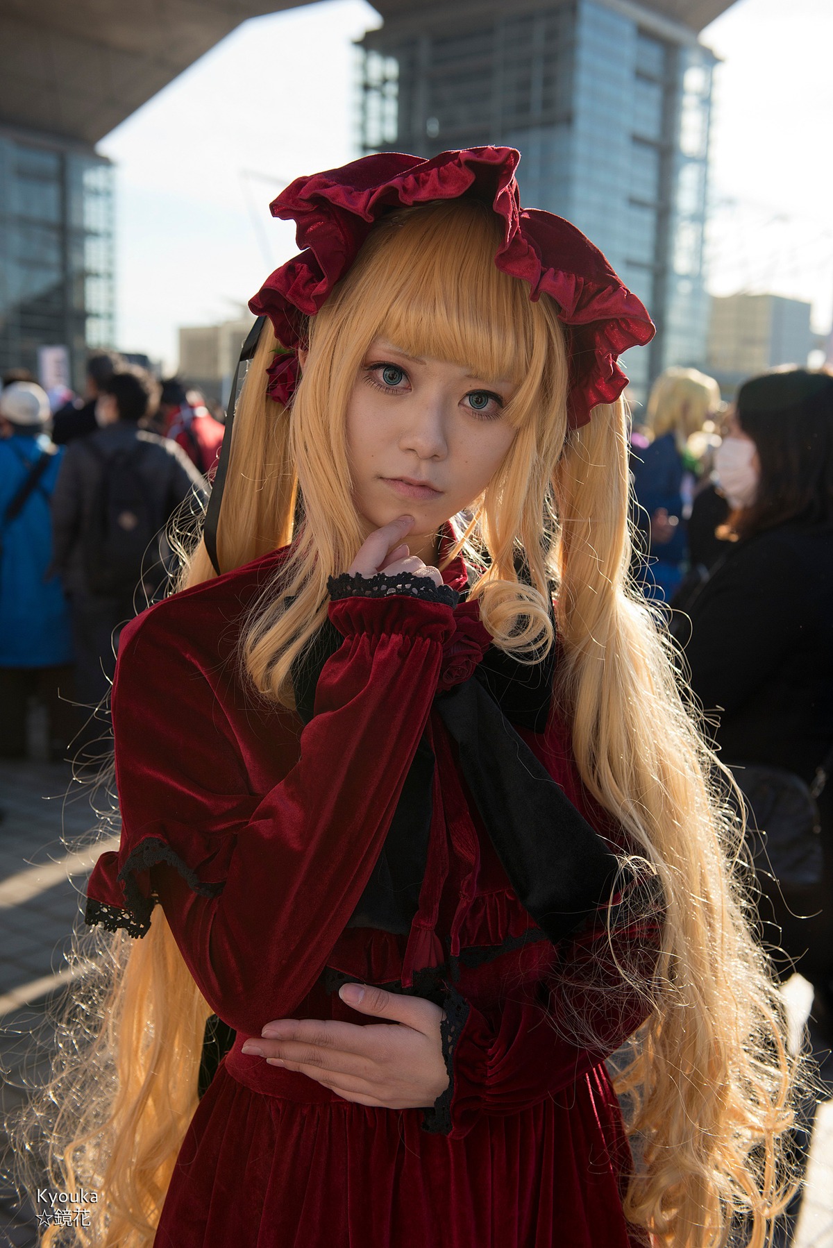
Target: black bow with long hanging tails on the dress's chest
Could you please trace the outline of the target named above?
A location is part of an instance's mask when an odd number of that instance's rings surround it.
[[[296,661],[295,696],[305,724],[315,713],[323,665],[342,643],[327,620]],[[492,645],[473,676],[437,694],[435,708],[457,746],[461,771],[518,901],[557,942],[607,901],[618,859],[511,723],[543,731],[555,663],[555,648],[531,666]],[[427,861],[433,769],[433,751],[423,738],[348,927],[410,931]]]

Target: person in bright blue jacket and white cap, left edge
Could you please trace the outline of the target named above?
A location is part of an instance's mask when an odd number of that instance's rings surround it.
[[[74,734],[72,644],[64,590],[47,578],[50,497],[62,456],[46,429],[49,399],[34,382],[0,393],[0,758],[26,756],[32,695],[47,710],[51,759]]]

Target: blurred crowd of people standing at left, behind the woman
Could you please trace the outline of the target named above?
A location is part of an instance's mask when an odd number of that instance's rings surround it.
[[[176,378],[110,352],[85,391],[0,391],[0,756],[92,765],[121,626],[165,593],[170,522],[207,495],[224,426]]]

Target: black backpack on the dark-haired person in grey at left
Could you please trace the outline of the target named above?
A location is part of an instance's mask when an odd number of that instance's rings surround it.
[[[146,448],[141,442],[111,454],[92,442],[87,448],[100,467],[82,534],[87,588],[110,597],[131,594],[142,579],[145,555],[164,523],[139,470]]]

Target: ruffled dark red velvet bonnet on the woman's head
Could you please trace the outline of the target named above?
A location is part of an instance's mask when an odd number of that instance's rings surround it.
[[[341,168],[298,177],[271,203],[281,220],[297,222],[301,253],[276,268],[249,307],[267,316],[286,348],[269,369],[269,394],[288,403],[298,378],[305,318],[322,306],[343,277],[373,223],[388,212],[432,200],[471,195],[491,203],[503,220],[500,270],[522,277],[530,298],[543,291],[568,327],[571,428],[589,421],[597,403],[612,403],[627,386],[618,356],[654,334],[639,300],[584,235],[552,212],[522,208],[513,147],[470,147],[420,160],[380,152]]]

